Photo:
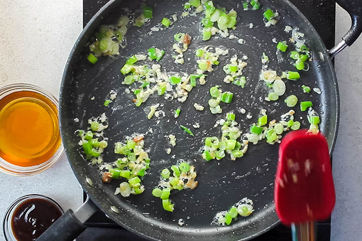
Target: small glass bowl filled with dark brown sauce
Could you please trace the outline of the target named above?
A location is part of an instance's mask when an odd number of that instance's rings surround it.
[[[18,198],[8,208],[3,222],[7,241],[35,241],[64,213],[53,199],[31,194]]]

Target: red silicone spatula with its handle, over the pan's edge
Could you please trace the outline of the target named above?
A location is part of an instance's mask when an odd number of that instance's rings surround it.
[[[293,240],[314,240],[314,221],[329,217],[335,203],[328,144],[322,134],[299,130],[282,140],[274,198],[280,219],[292,225]]]

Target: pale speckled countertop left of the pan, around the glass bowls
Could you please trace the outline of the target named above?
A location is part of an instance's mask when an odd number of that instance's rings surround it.
[[[82,30],[82,4],[82,0],[0,0],[0,86],[33,83],[58,96],[65,62]],[[82,190],[65,155],[36,176],[0,173],[0,183],[1,222],[11,202],[26,194],[50,196],[64,209],[82,203]]]

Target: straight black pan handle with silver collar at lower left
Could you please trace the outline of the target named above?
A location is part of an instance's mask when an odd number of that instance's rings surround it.
[[[98,207],[87,197],[75,213],[71,209],[66,211],[36,241],[72,241],[85,230],[84,222],[96,211]]]

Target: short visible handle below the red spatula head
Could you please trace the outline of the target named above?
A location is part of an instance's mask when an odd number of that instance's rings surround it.
[[[313,220],[303,223],[292,223],[293,241],[315,241],[316,226]]]

